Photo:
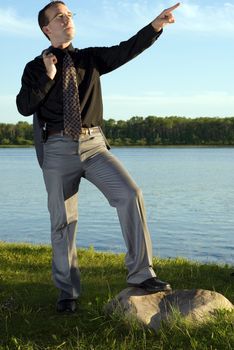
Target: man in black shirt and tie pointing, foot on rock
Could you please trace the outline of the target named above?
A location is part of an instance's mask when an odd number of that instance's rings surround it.
[[[26,65],[17,107],[24,116],[36,115],[43,131],[41,167],[51,219],[52,275],[60,290],[58,312],[74,312],[80,294],[75,237],[81,177],[97,186],[117,209],[127,246],[128,285],[149,292],[171,290],[152,267],[141,191],[109,152],[100,128],[100,76],[152,45],[164,25],[174,22],[172,11],[178,6],[164,10],[119,45],[82,50],[71,44],[75,27],[72,13],[62,1],[53,1],[39,12],[40,28],[51,46]]]

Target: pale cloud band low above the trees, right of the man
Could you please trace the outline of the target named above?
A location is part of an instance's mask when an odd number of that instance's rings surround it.
[[[208,91],[187,95],[166,95],[149,92],[142,96],[104,96],[106,118],[129,118],[133,115],[177,115],[185,117],[234,116],[234,95]]]

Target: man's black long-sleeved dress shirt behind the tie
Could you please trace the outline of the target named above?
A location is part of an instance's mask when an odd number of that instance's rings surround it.
[[[162,33],[149,24],[136,35],[112,47],[74,49],[72,44],[62,50],[50,47],[57,57],[57,73],[51,80],[46,74],[42,55],[29,62],[22,76],[22,87],[16,98],[17,108],[24,116],[37,114],[48,130],[63,130],[62,63],[65,52],[71,54],[79,84],[82,125],[101,126],[103,105],[100,76],[120,67],[151,46]]]

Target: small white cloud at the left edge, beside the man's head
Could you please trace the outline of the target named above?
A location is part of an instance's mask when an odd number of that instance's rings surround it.
[[[13,8],[0,8],[0,33],[4,35],[35,37],[39,31],[34,22],[18,16]]]

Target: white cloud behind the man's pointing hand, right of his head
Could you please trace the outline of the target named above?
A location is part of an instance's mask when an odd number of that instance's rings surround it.
[[[91,18],[90,12],[85,14],[86,23],[88,20],[91,28],[103,35],[102,29],[123,32],[129,31],[129,27],[139,27],[153,20],[163,9],[171,5],[170,1],[116,1],[102,0],[100,11],[101,19]],[[203,33],[217,33],[221,35],[234,33],[234,3],[220,2],[213,4],[210,1],[202,2],[195,0],[184,0],[181,6],[174,12],[176,24],[174,31],[190,31]],[[86,18],[87,16],[87,18]],[[81,16],[82,17],[82,16]],[[87,28],[87,27],[86,27]]]

